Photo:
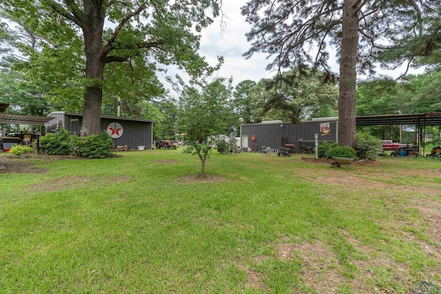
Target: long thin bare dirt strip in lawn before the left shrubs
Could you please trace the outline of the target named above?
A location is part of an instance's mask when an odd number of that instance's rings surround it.
[[[128,182],[130,176],[119,176],[118,178],[112,179],[112,184]],[[34,192],[53,192],[59,190],[70,190],[70,189],[78,189],[83,187],[88,187],[90,185],[96,186],[105,186],[108,184],[107,177],[79,177],[79,176],[68,176],[63,178],[57,178],[56,180],[51,180],[49,182],[41,182],[40,184],[32,186],[32,191]]]

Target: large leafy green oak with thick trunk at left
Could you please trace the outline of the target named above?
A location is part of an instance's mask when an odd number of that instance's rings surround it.
[[[97,134],[103,90],[139,95],[137,83],[152,87],[157,83],[156,63],[175,64],[192,74],[210,70],[196,52],[199,32],[218,16],[219,3],[4,0],[0,11],[31,36],[30,42],[11,42],[27,59],[30,74],[48,74],[42,80],[51,90],[82,87],[83,94],[75,92],[77,101],[83,96],[82,129],[85,134]],[[209,8],[212,17],[206,14]],[[112,78],[110,72],[119,78]]]

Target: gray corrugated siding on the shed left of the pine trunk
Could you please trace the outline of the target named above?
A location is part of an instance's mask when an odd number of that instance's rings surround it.
[[[276,124],[254,124],[241,125],[240,135],[248,136],[248,147],[251,149],[261,149],[262,145],[278,149],[283,146],[284,139],[287,144],[296,145],[296,152],[302,140],[302,145],[314,147],[315,134],[318,134],[318,140],[336,140],[337,123],[330,122],[331,136],[320,136],[320,123],[303,122],[298,125],[292,123],[276,123]],[[256,135],[256,142],[251,141],[251,136]],[[311,142],[305,142],[311,141]]]

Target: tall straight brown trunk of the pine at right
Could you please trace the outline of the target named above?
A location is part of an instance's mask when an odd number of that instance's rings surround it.
[[[356,65],[358,52],[359,0],[343,4],[340,83],[338,95],[338,141],[342,146],[356,143]]]

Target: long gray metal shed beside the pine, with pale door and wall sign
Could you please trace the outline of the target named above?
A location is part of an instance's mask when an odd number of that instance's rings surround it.
[[[323,125],[329,126],[328,135],[322,134]],[[240,125],[240,147],[260,150],[262,145],[278,149],[285,144],[294,144],[295,151],[298,152],[300,146],[315,146],[315,134],[318,134],[319,142],[338,141],[338,119],[320,118],[296,125],[283,123],[280,120]]]

